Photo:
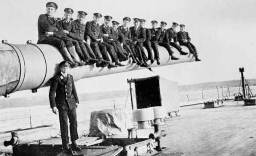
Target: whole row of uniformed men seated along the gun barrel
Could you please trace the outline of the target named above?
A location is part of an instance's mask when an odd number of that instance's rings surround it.
[[[181,31],[176,33],[177,23],[173,23],[172,28],[166,30],[166,22],[161,22],[160,28],[157,28],[157,21],[153,20],[152,28],[147,29],[144,27],[145,20],[134,18],[134,26],[128,28],[131,19],[125,17],[122,26],[112,21],[111,27],[112,17],[105,16],[104,24],[99,26],[102,18],[99,13],[94,13],[93,20],[84,25],[87,15],[84,11],[78,11],[77,19],[71,22],[74,11],[66,8],[64,19],[57,21],[53,18],[53,14],[58,9],[58,5],[49,2],[46,7],[47,14],[41,14],[38,18],[38,44],[57,47],[73,68],[94,63],[96,67],[114,68],[124,66],[121,62],[128,60],[129,57],[132,63],[137,63],[141,67],[148,67],[148,60],[151,60],[151,63],[156,60],[160,65],[158,45],[167,49],[171,60],[179,58],[173,55],[170,45],[177,48],[181,55],[186,55],[188,53],[182,51],[180,47],[185,45],[190,53],[194,54],[196,61],[200,61],[195,46],[190,43],[189,34],[184,31],[184,25],[180,25]],[[148,57],[143,46],[147,49]]]

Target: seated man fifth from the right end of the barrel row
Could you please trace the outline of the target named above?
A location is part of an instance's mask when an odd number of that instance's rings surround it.
[[[151,64],[154,63],[154,59],[153,59],[153,55],[152,55],[152,48],[151,48],[151,33],[150,33],[150,29],[145,28],[145,22],[146,20],[144,19],[140,19],[140,27],[143,28],[145,30],[146,33],[146,40],[143,42],[143,45],[145,46],[145,48],[148,51],[148,59],[151,61]]]

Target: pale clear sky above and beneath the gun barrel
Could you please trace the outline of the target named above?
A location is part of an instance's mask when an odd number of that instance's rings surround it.
[[[48,0],[0,0],[0,40],[26,44],[38,40],[37,20],[46,13]],[[122,23],[123,17],[185,24],[191,42],[197,47],[201,62],[189,62],[81,79],[76,82],[78,93],[128,90],[126,79],[160,75],[178,85],[240,79],[244,67],[246,79],[256,78],[256,1],[255,0],[53,0],[58,4],[55,17],[63,17],[66,7],[87,12],[85,22],[93,13],[111,15]],[[102,21],[103,22],[103,19]],[[132,23],[130,23],[132,26]],[[179,28],[178,28],[179,30]],[[41,88],[37,95],[47,95]],[[32,96],[31,91],[19,91],[16,96]]]

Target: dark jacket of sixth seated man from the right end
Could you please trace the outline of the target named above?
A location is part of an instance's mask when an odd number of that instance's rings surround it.
[[[137,30],[135,31],[135,27],[132,26],[129,29],[131,31],[131,39],[133,41],[137,41],[137,42],[145,42],[146,40],[146,33],[144,28],[138,27]]]

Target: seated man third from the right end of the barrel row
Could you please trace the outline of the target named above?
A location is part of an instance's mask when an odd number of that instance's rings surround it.
[[[158,39],[158,45],[163,46],[167,49],[169,56],[171,57],[172,60],[179,60],[179,58],[173,56],[173,51],[169,44],[168,33],[165,29],[166,25],[166,22],[161,22],[160,28],[158,28],[161,31],[160,37]]]

